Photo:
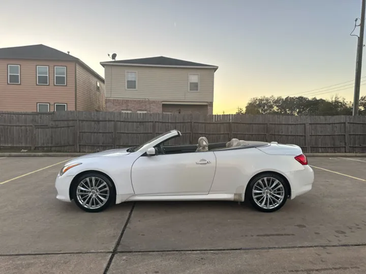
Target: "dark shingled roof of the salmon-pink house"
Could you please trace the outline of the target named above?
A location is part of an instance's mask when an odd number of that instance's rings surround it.
[[[90,68],[79,58],[42,44],[0,48],[0,59],[74,61],[81,64],[89,73],[93,74],[104,83],[104,78],[96,73],[92,68]]]

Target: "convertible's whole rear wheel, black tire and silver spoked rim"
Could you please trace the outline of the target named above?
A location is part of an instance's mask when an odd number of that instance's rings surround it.
[[[274,212],[286,203],[288,191],[287,183],[281,176],[264,173],[251,180],[247,198],[255,209]]]

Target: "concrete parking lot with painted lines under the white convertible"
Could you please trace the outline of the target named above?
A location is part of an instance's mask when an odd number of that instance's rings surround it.
[[[271,214],[237,202],[85,213],[55,198],[66,160],[0,158],[0,273],[366,272],[365,158],[310,158],[313,190]]]

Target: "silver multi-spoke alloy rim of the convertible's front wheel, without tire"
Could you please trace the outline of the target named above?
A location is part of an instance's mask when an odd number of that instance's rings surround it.
[[[86,209],[99,209],[108,201],[108,184],[98,177],[86,177],[76,188],[76,198]]]

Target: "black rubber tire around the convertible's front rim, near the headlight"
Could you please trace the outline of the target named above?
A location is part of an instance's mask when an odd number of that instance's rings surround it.
[[[103,205],[101,205],[100,207],[98,208],[93,208],[93,202],[92,201],[87,201],[86,202],[86,207],[82,204],[82,202],[78,199],[77,197],[77,189],[78,189],[78,186],[81,184],[81,182],[83,182],[84,180],[87,180],[87,178],[95,178],[95,182],[101,182],[99,180],[102,180],[106,185],[103,184],[102,187],[100,187],[101,190],[103,190],[104,188],[106,188],[108,186],[108,197],[106,196],[107,194],[102,194],[102,193],[107,193],[107,191],[104,191],[104,192],[98,192],[98,194],[100,194],[99,196],[97,196],[96,198],[98,198],[98,202],[102,201],[104,202]],[[90,179],[89,179],[90,181]],[[85,182],[85,181],[84,181]],[[84,186],[87,186],[87,184],[85,185],[84,183]],[[87,193],[87,192],[85,192]],[[95,195],[98,195],[97,193],[95,193]],[[86,196],[86,194],[85,194]],[[85,196],[80,196],[81,198],[82,197],[85,197]],[[116,196],[116,192],[115,192],[115,187],[114,187],[114,184],[111,182],[110,179],[108,179],[106,176],[102,175],[102,174],[99,174],[99,173],[93,173],[93,172],[90,172],[90,173],[86,173],[84,175],[82,175],[81,177],[79,177],[77,179],[77,181],[73,184],[72,186],[72,197],[76,203],[76,205],[82,209],[83,211],[86,211],[86,212],[92,212],[92,213],[95,213],[95,212],[102,212],[104,210],[106,210],[110,205],[111,203],[115,200],[115,196]],[[107,197],[106,198],[106,201],[103,201],[101,200],[101,198],[99,197]],[[90,200],[92,200],[92,198],[90,198]],[[90,203],[90,208],[87,207],[87,205]],[[94,204],[96,205],[96,201],[94,201]]]

